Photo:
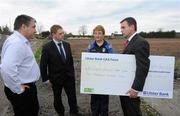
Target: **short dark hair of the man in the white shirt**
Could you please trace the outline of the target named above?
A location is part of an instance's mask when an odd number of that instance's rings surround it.
[[[33,20],[36,22],[36,20],[33,17],[28,15],[22,14],[17,16],[14,22],[14,30],[20,29],[23,24],[29,26],[30,22]]]

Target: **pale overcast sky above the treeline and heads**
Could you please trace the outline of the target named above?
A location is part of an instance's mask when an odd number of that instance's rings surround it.
[[[67,33],[78,34],[82,25],[88,34],[103,25],[106,34],[120,32],[120,21],[134,17],[138,32],[175,30],[180,32],[180,0],[0,0],[0,26],[13,29],[17,15],[27,14],[49,30],[61,25]]]

